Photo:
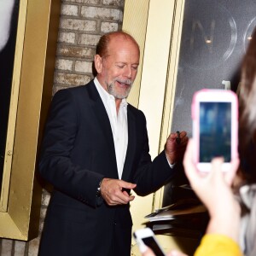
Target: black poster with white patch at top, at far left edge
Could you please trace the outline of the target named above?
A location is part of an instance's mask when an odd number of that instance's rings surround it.
[[[19,3],[20,0],[0,1],[0,183],[3,178]]]

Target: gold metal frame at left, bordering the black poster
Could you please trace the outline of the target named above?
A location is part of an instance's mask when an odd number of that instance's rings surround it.
[[[60,0],[20,0],[0,199],[0,237],[38,236],[38,143],[51,99]],[[44,109],[41,109],[44,103]]]

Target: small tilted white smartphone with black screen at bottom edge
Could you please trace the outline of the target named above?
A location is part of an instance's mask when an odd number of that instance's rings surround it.
[[[151,250],[154,252],[156,256],[166,256],[163,249],[160,247],[160,244],[156,240],[154,232],[151,229],[144,228],[141,230],[136,230],[133,233],[133,236],[137,241],[137,245],[141,253],[143,253],[143,248],[146,245],[147,247],[151,248]]]

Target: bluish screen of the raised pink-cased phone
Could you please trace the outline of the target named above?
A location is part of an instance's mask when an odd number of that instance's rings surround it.
[[[231,160],[231,103],[200,102],[200,154],[202,163],[223,156]]]

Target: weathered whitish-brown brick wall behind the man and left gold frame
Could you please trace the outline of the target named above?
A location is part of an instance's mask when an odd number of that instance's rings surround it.
[[[96,43],[105,32],[121,28],[124,5],[125,0],[62,0],[53,94],[93,78]],[[38,255],[49,197],[44,189],[39,236],[28,242],[0,239],[1,256]]]

